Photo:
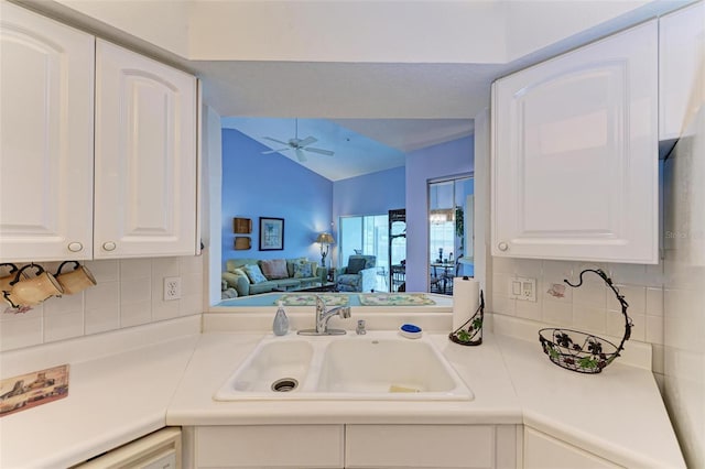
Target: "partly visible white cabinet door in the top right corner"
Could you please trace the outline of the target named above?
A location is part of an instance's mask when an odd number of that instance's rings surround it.
[[[659,138],[673,140],[694,120],[705,92],[705,1],[659,22]],[[699,75],[698,75],[699,74]]]

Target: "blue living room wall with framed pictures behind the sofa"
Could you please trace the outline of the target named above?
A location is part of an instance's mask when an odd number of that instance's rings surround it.
[[[316,234],[329,231],[333,183],[237,130],[223,130],[223,268],[232,258],[319,260]],[[232,218],[252,219],[250,250],[234,250]],[[259,217],[284,218],[284,250],[259,251]],[[248,236],[248,234],[238,234]]]

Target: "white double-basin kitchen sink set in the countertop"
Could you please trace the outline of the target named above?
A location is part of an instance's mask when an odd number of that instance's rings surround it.
[[[427,337],[268,336],[216,401],[470,401],[473,392]]]

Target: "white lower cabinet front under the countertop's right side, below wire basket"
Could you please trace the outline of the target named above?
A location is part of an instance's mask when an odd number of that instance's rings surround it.
[[[524,469],[616,469],[607,459],[524,427]]]

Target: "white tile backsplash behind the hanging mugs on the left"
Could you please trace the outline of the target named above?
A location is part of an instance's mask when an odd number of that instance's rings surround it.
[[[98,283],[24,314],[0,314],[0,351],[203,312],[203,257],[87,261]],[[55,272],[58,263],[44,264]],[[162,299],[163,279],[182,277],[182,298]]]

